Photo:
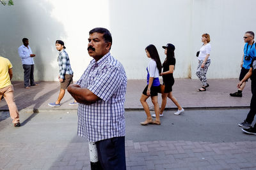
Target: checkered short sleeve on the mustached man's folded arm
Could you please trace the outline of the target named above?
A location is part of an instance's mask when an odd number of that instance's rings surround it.
[[[122,83],[122,75],[118,67],[108,67],[95,78],[88,89],[103,101],[108,101]]]

